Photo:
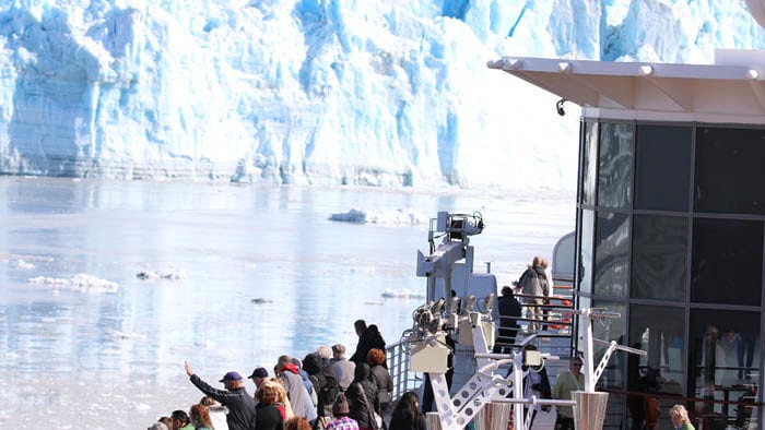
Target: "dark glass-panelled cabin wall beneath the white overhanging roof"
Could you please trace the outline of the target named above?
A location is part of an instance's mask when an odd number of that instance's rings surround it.
[[[604,428],[657,404],[660,429],[674,404],[762,428],[765,124],[585,117],[579,141],[578,307],[619,312],[595,337],[648,353],[611,358]]]

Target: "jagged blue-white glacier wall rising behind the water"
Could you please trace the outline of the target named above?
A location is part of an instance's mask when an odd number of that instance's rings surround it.
[[[502,55],[710,63],[743,0],[7,0],[0,174],[575,189]]]

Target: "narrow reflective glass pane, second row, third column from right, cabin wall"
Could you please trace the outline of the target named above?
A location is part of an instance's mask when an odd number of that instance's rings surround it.
[[[596,295],[626,297],[629,270],[629,217],[599,212],[596,225]]]

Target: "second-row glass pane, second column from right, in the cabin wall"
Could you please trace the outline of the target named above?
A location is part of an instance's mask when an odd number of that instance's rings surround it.
[[[635,215],[632,297],[685,300],[688,218]]]

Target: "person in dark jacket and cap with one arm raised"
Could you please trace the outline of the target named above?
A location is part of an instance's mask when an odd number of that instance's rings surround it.
[[[189,362],[184,362],[186,373],[199,391],[216,399],[228,408],[226,422],[229,430],[250,430],[255,420],[255,399],[247,393],[244,379],[237,372],[226,373],[220,382],[225,390],[216,390],[202,381],[192,371]]]

